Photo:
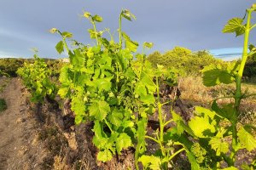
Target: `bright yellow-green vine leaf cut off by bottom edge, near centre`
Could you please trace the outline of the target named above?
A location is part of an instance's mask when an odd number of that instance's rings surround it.
[[[144,169],[147,169],[148,167],[150,169],[160,170],[160,157],[157,156],[141,156],[138,161],[141,161],[143,163]]]

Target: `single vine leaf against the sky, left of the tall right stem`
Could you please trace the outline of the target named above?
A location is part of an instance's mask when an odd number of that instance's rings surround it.
[[[241,18],[233,18],[228,21],[222,30],[223,33],[236,33],[236,37],[241,36],[245,32],[245,25],[242,25]]]

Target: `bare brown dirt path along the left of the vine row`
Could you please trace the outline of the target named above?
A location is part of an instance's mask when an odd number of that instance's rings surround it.
[[[6,82],[3,79],[0,84]],[[8,106],[0,112],[0,170],[38,169],[44,148],[38,142],[37,122],[28,112],[26,94],[22,93],[19,80],[9,79],[0,97]]]

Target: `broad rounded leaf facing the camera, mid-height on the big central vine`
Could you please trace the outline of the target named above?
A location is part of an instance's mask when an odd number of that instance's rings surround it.
[[[94,116],[96,120],[102,121],[108,115],[110,107],[106,101],[96,101],[89,107],[90,116]]]

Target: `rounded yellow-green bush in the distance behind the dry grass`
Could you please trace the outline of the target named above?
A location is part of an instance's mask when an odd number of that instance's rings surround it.
[[[207,50],[193,53],[182,47],[175,47],[165,54],[156,51],[148,55],[148,60],[155,66],[175,68],[181,75],[199,75],[204,66],[224,63],[220,59],[215,59]]]

